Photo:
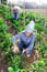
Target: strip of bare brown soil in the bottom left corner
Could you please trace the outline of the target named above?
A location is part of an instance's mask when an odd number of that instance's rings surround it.
[[[2,51],[0,50],[0,72],[8,72],[5,60],[3,58]]]

